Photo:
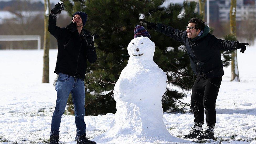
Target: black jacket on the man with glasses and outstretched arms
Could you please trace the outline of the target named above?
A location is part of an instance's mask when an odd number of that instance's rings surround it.
[[[205,26],[201,36],[194,39],[188,38],[186,31],[159,23],[156,31],[184,43],[194,73],[208,78],[220,77],[224,74],[220,51],[235,50],[236,41],[217,39],[214,35],[209,34],[208,26]]]

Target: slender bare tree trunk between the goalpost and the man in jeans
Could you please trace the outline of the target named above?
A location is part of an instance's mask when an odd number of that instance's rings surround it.
[[[48,19],[50,14],[50,0],[44,0],[44,66],[42,83],[49,83],[49,48],[50,48],[50,33],[48,31]]]

